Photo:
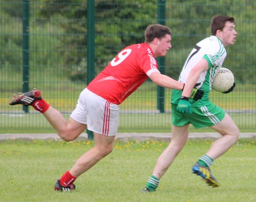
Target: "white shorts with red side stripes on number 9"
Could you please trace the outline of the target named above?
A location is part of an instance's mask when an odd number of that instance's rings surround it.
[[[118,105],[84,89],[77,101],[72,119],[86,124],[87,129],[104,136],[115,136],[118,130]]]

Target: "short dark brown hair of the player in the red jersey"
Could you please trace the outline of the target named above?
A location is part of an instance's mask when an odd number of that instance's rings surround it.
[[[172,35],[170,29],[162,24],[151,24],[145,31],[145,43],[153,41],[155,38],[161,39],[165,35]]]

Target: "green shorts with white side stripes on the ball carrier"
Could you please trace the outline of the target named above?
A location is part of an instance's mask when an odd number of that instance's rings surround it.
[[[203,107],[192,107],[192,113],[177,112],[177,104],[172,106],[172,125],[183,126],[192,124],[195,128],[211,127],[220,123],[225,116],[222,108],[207,102]]]

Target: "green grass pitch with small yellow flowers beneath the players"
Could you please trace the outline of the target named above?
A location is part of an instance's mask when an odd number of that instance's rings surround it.
[[[256,201],[254,139],[240,139],[212,166],[221,187],[210,188],[191,166],[213,140],[191,139],[154,193],[141,193],[166,141],[115,141],[114,150],[76,180],[77,190],[55,192],[53,185],[94,142],[80,139],[0,142],[0,201]]]

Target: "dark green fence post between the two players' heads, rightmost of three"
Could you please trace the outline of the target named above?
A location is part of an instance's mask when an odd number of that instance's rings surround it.
[[[166,1],[158,0],[158,23],[166,24]],[[160,73],[164,74],[164,57],[157,58]],[[157,107],[160,113],[164,113],[164,87],[157,87]]]

